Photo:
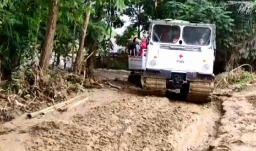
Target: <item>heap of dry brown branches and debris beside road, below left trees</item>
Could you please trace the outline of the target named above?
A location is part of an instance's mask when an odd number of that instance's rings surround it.
[[[101,87],[62,69],[52,69],[46,74],[39,66],[28,65],[14,72],[0,90],[0,122],[66,101],[88,88]]]

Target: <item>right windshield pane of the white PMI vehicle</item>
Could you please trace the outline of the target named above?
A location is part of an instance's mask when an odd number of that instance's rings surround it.
[[[182,39],[184,43],[191,45],[209,45],[211,30],[206,27],[184,27]]]

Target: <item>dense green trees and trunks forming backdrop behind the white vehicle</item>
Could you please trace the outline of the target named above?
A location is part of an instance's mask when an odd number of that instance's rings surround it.
[[[106,57],[110,64],[112,29],[123,26],[123,14],[133,24],[123,35],[115,36],[118,45],[126,47],[131,38],[141,37],[149,19],[213,23],[217,28],[216,64],[222,67],[216,72],[241,63],[254,65],[254,8],[252,1],[221,0],[1,0],[1,78],[10,78],[17,67],[37,59],[47,71],[50,57],[55,60],[53,67],[61,56],[65,62],[71,59],[73,72],[81,73],[86,68],[90,77],[95,54]]]

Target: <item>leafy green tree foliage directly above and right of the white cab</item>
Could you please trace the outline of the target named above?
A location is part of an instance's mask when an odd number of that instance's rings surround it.
[[[174,10],[174,11],[167,11]],[[223,47],[230,47],[233,19],[230,18],[231,12],[226,11],[221,6],[209,1],[186,1],[185,3],[170,1],[166,4],[164,18],[175,18],[190,22],[204,22],[216,25],[216,44]]]

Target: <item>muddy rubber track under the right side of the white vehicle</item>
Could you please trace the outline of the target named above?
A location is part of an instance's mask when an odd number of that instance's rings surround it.
[[[214,90],[214,83],[190,82],[187,101],[207,103],[210,102],[210,95]]]

